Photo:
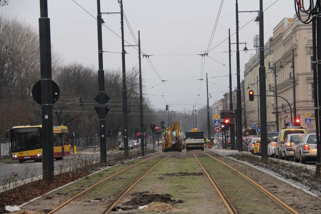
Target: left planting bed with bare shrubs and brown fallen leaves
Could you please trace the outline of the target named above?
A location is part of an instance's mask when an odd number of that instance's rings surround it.
[[[152,150],[147,151],[147,154],[150,153],[152,153]],[[13,172],[1,182],[0,204],[22,204],[110,164],[121,163],[140,156],[140,150],[129,151],[128,158],[125,157],[124,152],[111,152],[107,154],[107,164],[101,164],[100,158],[94,158],[94,156],[75,156],[63,161],[55,168],[56,175],[53,182],[45,182],[39,179],[38,172],[35,169],[26,168],[22,173]]]

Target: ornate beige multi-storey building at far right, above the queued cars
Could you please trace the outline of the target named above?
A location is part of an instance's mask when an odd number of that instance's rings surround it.
[[[315,131],[314,89],[312,67],[312,24],[303,24],[297,16],[283,19],[273,29],[273,57],[276,64],[277,94],[289,101],[293,109],[293,72],[292,56],[294,50],[294,80],[296,115],[301,125],[309,131]],[[272,60],[273,61],[273,60]],[[282,63],[282,66],[280,67]],[[272,70],[271,70],[272,71]],[[290,107],[282,98],[278,98],[279,126],[291,122]],[[304,114],[309,111],[311,124],[305,125]]]

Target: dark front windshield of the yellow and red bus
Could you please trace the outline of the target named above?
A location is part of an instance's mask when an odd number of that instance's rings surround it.
[[[42,148],[40,128],[14,128],[11,131],[13,152]]]

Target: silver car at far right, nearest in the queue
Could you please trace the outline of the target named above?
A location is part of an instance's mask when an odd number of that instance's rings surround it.
[[[317,134],[304,134],[294,148],[294,161],[304,164],[317,159]]]

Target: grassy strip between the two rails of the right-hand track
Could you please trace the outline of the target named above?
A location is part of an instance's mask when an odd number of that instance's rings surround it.
[[[271,214],[288,213],[265,193],[220,162],[205,155],[200,155],[199,159],[238,213],[260,213],[262,210],[268,210]]]

